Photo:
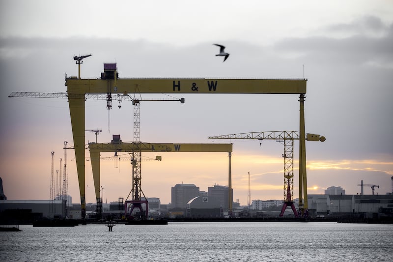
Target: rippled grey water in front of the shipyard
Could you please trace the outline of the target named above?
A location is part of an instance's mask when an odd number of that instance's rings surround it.
[[[393,225],[200,222],[0,232],[0,261],[393,261]]]

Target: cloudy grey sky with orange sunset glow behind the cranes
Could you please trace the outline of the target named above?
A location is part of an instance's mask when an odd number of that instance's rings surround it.
[[[10,200],[48,199],[51,151],[55,170],[72,146],[66,99],[8,98],[13,91],[64,92],[64,77],[98,78],[104,62],[120,77],[307,78],[306,132],[326,137],[306,142],[309,194],[341,186],[380,185],[392,191],[393,4],[348,1],[0,1],[0,176]],[[215,57],[226,46],[223,63]],[[151,97],[142,95],[142,97]],[[165,94],[159,97],[168,97]],[[233,143],[234,200],[283,199],[283,146],[276,141],[221,140],[208,136],[299,130],[298,95],[181,95],[186,103],[141,102],[140,140],[155,143]],[[86,102],[86,128],[133,140],[132,105]],[[86,144],[95,141],[86,133]],[[295,142],[295,197],[298,196]],[[155,154],[143,153],[144,157]],[[170,187],[200,190],[227,185],[227,153],[162,153],[142,162],[142,190],[168,204]],[[88,152],[86,152],[88,156]],[[111,156],[111,154],[103,155]],[[67,151],[69,191],[80,201],[74,152]],[[104,201],[127,197],[131,165],[101,163]],[[55,173],[56,175],[56,173]],[[365,188],[365,194],[371,194]],[[95,202],[86,162],[86,203]]]

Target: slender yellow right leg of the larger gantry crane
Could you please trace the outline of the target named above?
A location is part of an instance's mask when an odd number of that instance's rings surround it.
[[[299,209],[302,216],[308,214],[307,174],[306,174],[306,132],[304,120],[304,100],[306,95],[300,94],[300,130],[299,130]],[[302,192],[303,191],[303,199]]]

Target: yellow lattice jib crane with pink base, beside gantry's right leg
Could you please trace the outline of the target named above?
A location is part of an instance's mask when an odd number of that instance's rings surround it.
[[[209,139],[257,139],[257,140],[276,140],[277,142],[284,145],[284,153],[282,157],[284,158],[284,204],[281,208],[280,216],[283,216],[284,211],[287,206],[292,208],[295,217],[298,216],[298,212],[296,211],[295,205],[293,204],[293,141],[300,140],[300,133],[297,131],[268,131],[268,132],[248,132],[248,133],[239,133],[239,134],[230,134],[230,135],[221,135],[221,136],[213,136],[208,137]],[[315,134],[306,133],[305,139],[308,141],[321,141],[324,142],[326,140],[325,137]],[[300,173],[300,171],[299,171]],[[299,180],[302,179],[299,175]],[[304,177],[303,177],[304,179]],[[303,180],[303,186],[307,189],[307,180]],[[299,191],[301,191],[301,187],[299,186]],[[299,194],[301,196],[301,194]],[[301,198],[299,198],[300,200]],[[307,190],[304,191],[304,203],[307,206]],[[304,211],[300,210],[304,215]]]

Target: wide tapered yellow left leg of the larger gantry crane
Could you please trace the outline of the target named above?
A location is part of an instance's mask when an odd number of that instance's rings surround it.
[[[79,181],[79,192],[81,194],[81,217],[86,215],[85,201],[85,171],[84,171],[84,98],[68,99],[71,116],[72,136],[74,138],[75,160]]]

